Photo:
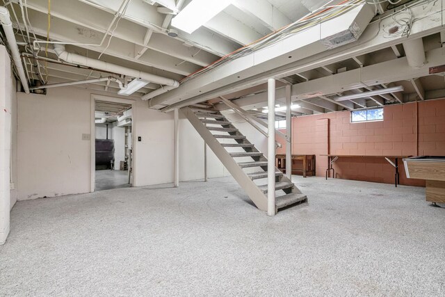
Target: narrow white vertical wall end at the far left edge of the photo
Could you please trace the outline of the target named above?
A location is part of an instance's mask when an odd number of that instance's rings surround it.
[[[11,70],[6,48],[0,45],[0,244],[9,234],[11,156]]]

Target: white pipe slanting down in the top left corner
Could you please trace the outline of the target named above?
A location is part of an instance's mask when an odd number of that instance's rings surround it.
[[[28,80],[26,79],[26,74],[22,65],[22,59],[20,58],[17,40],[15,40],[13,23],[11,23],[8,9],[3,6],[0,6],[0,22],[1,26],[3,26],[3,31],[5,31],[6,40],[8,40],[8,46],[11,51],[11,55],[13,56],[13,62],[15,67],[17,68],[20,82],[22,83],[25,93],[29,94]]]

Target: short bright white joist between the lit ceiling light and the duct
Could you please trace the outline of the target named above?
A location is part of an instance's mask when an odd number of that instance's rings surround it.
[[[291,24],[292,21],[267,0],[234,0],[234,6],[255,17],[270,31]]]

